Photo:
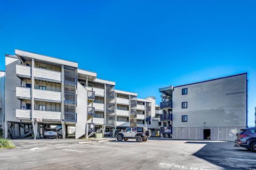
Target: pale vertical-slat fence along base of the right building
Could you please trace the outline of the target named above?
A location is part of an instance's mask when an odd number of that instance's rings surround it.
[[[172,138],[203,140],[204,129],[210,129],[211,140],[234,141],[236,133],[241,128],[245,127],[172,127]]]

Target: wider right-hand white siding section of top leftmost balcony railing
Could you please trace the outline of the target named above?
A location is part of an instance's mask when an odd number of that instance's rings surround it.
[[[57,82],[61,82],[61,72],[58,72],[58,71],[35,68],[34,76],[35,76],[35,79],[36,78],[46,79],[46,80],[50,79]]]

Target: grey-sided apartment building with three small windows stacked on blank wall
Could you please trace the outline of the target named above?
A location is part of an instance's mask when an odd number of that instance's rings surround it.
[[[161,134],[173,139],[235,139],[247,126],[247,73],[159,88]]]

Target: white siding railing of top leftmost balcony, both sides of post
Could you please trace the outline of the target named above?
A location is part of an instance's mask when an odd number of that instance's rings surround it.
[[[31,78],[31,67],[17,64],[16,74],[21,78]],[[34,68],[34,78],[46,82],[61,83],[61,72]]]

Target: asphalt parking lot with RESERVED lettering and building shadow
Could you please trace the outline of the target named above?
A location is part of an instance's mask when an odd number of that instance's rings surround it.
[[[151,139],[138,143],[14,140],[0,169],[254,169],[256,153],[233,142]]]

